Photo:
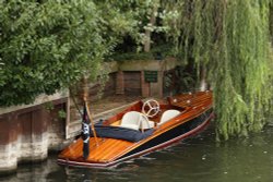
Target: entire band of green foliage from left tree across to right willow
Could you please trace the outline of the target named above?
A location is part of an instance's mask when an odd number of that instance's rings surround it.
[[[86,74],[97,77],[104,57],[124,37],[136,47],[150,31],[151,52],[136,48],[139,53],[112,58],[179,54],[194,62],[197,74],[205,68],[217,133],[224,139],[247,135],[273,111],[270,5],[271,0],[0,1],[0,106],[32,102]],[[149,24],[153,13],[155,25]],[[156,47],[166,41],[174,49]],[[192,76],[187,77],[190,85]]]

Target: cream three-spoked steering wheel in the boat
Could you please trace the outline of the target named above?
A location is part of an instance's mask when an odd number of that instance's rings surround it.
[[[147,108],[147,110],[146,110]],[[154,99],[146,100],[142,106],[142,113],[144,113],[147,118],[152,118],[159,112],[159,104]]]

